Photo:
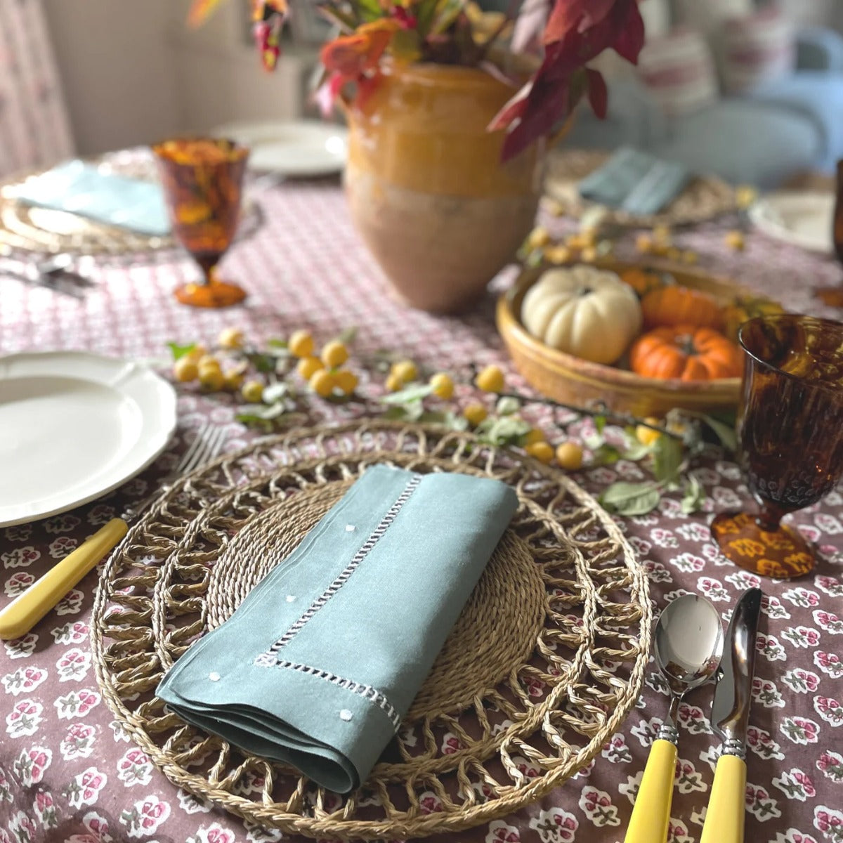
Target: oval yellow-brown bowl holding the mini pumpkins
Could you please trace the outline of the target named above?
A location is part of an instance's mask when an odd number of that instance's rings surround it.
[[[659,261],[599,260],[601,269],[620,272],[633,267],[668,272],[683,287],[710,293],[722,303],[738,296],[760,298],[757,293],[738,287],[724,278],[690,271]],[[518,371],[542,395],[565,404],[587,406],[602,401],[610,409],[633,416],[663,416],[674,407],[695,411],[728,411],[738,404],[740,378],[708,381],[642,378],[615,366],[588,362],[581,357],[557,351],[530,335],[521,323],[521,303],[548,266],[524,270],[515,285],[497,302],[497,330]]]

